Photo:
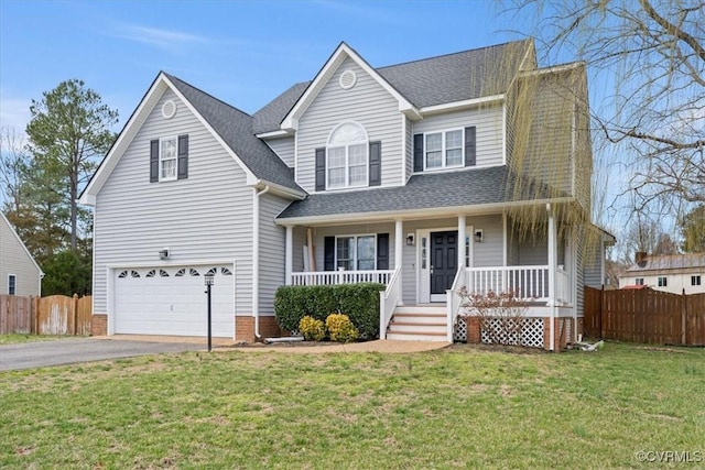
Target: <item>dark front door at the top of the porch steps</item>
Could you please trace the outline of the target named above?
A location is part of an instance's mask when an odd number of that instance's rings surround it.
[[[457,273],[457,231],[431,233],[431,302],[445,302]]]

